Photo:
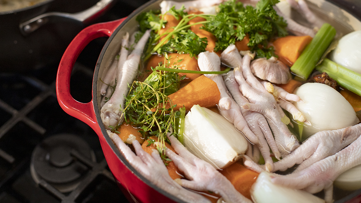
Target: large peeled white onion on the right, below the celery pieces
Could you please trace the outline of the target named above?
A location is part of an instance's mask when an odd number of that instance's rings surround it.
[[[304,101],[295,103],[295,107],[311,124],[304,124],[302,137],[309,137],[322,130],[346,128],[359,122],[351,104],[328,85],[305,83],[293,94]]]

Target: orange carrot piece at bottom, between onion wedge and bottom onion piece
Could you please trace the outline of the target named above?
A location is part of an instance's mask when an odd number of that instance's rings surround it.
[[[236,162],[229,167],[220,171],[223,176],[231,181],[234,188],[239,191],[243,196],[251,199],[251,193],[249,190],[253,183],[256,182],[258,173],[251,169],[244,167],[239,162]]]

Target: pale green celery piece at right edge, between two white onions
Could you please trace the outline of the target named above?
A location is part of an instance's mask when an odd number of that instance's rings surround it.
[[[329,59],[323,60],[316,70],[326,72],[339,85],[361,96],[361,74]]]

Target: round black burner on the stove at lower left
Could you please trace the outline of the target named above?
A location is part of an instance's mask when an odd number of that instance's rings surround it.
[[[77,151],[96,162],[94,151],[77,135],[58,134],[38,144],[31,156],[31,175],[36,183],[44,180],[60,192],[70,192],[78,186],[89,168],[71,155]]]

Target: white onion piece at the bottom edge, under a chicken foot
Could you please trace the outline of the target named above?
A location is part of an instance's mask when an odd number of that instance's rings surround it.
[[[291,189],[271,182],[271,173],[261,172],[257,181],[252,185],[251,196],[256,203],[325,203],[304,190]]]

